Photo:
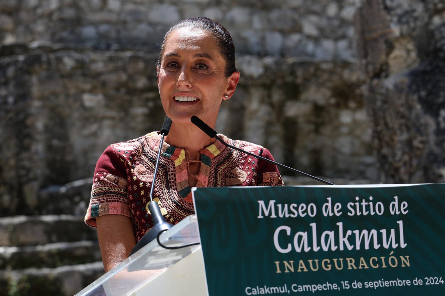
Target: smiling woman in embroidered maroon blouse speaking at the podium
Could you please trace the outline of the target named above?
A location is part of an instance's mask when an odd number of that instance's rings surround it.
[[[194,213],[194,186],[283,185],[275,165],[226,148],[190,122],[196,115],[214,127],[221,103],[239,81],[235,44],[221,24],[192,18],[174,25],[164,37],[157,70],[162,107],[172,119],[154,182],[154,200],[167,221],[175,224]],[[262,146],[219,136],[273,159]],[[97,227],[105,271],[125,260],[151,227],[149,192],[159,141],[152,132],[112,144],[97,162],[85,222]]]

